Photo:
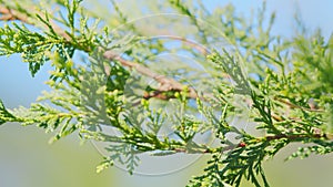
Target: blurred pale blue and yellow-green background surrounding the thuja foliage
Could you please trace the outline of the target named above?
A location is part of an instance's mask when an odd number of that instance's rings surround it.
[[[236,12],[245,15],[262,6],[261,0],[212,0],[204,3],[213,10],[216,4],[231,2]],[[333,1],[279,0],[268,1],[266,6],[268,12],[276,12],[274,34],[292,37],[296,11],[311,31],[321,28],[325,39],[329,39],[333,31]],[[123,10],[131,9],[128,4],[128,9]],[[0,27],[2,25],[0,23]],[[0,98],[4,105],[9,108],[20,105],[28,107],[41,91],[48,90],[43,82],[49,77],[49,69],[47,64],[36,77],[31,77],[28,64],[22,63],[19,55],[1,56]],[[95,174],[95,166],[102,160],[102,156],[90,142],[81,145],[78,136],[72,135],[49,145],[50,137],[51,135],[34,126],[22,127],[14,123],[0,126],[0,187],[181,187],[185,186],[191,176],[202,172],[206,160],[205,157],[200,157],[189,167],[162,176],[130,176],[117,167]],[[305,160],[285,163],[284,158],[295,148],[296,145],[291,145],[289,149],[283,149],[274,159],[264,164],[271,185],[332,186],[332,155],[311,156]]]

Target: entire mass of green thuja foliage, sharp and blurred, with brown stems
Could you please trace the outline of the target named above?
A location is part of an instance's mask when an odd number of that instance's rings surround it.
[[[108,17],[79,0],[41,1],[33,11],[0,2],[11,10],[3,15],[21,22],[0,28],[0,55],[21,54],[32,75],[44,63],[53,69],[51,91],[29,108],[7,110],[0,101],[0,125],[37,125],[54,132],[51,142],[78,132],[83,141],[103,143],[98,173],[118,162],[132,174],[143,153],[211,154],[204,174],[189,186],[240,186],[243,179],[269,186],[262,163],[289,144],[302,144],[290,158],[332,152],[333,38],[272,35],[275,14],[265,21],[265,4],[250,20],[232,6],[210,12],[196,1],[154,2],[145,11],[183,17],[138,23],[114,1]],[[204,70],[184,59],[155,58],[170,53],[185,53]],[[263,133],[254,135],[248,123]],[[204,133],[220,145],[198,141]]]

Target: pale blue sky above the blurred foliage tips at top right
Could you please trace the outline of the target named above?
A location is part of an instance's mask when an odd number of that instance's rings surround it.
[[[205,4],[210,9],[214,9],[216,4],[232,3],[236,12],[250,15],[251,10],[258,10],[263,0],[210,0]],[[289,37],[295,29],[294,13],[299,10],[302,20],[310,30],[321,28],[323,35],[329,38],[333,30],[333,1],[331,0],[268,0],[268,12],[276,12],[276,22],[273,27],[273,33]]]

